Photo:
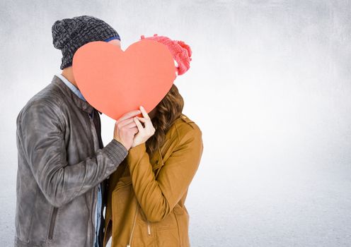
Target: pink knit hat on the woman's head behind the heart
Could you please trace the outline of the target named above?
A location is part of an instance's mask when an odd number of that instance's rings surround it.
[[[173,55],[173,59],[177,61],[178,67],[178,76],[183,75],[188,69],[190,68],[190,61],[191,61],[191,49],[188,44],[180,40],[171,40],[166,36],[157,36],[156,34],[152,37],[144,37],[141,36],[142,40],[155,40],[162,44],[165,44],[171,54]]]

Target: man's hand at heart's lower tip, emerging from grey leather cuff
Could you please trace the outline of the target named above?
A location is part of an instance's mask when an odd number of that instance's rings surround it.
[[[140,113],[141,112],[139,110],[127,112],[115,122],[113,138],[122,143],[127,150],[130,150],[130,147],[132,147],[134,135],[138,133],[137,124],[135,123],[133,117],[139,115]]]

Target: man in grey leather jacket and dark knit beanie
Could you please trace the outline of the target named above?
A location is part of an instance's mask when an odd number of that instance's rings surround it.
[[[125,114],[103,147],[100,116],[74,80],[74,52],[88,42],[120,45],[103,20],[79,16],[52,26],[62,51],[62,74],[34,95],[18,114],[15,246],[102,246],[103,182],[127,156],[137,126]],[[96,82],[98,83],[98,82]],[[118,99],[116,99],[118,104]]]

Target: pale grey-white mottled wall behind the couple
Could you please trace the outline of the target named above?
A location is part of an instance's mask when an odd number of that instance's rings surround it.
[[[351,1],[0,3],[0,245],[11,246],[16,116],[59,72],[51,25],[83,14],[122,37],[185,40],[175,84],[202,129],[192,246],[351,246]],[[113,121],[103,118],[103,139]]]

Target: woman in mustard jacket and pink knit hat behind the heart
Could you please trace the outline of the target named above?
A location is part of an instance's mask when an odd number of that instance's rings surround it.
[[[188,70],[191,50],[184,42],[146,39],[168,46],[178,75]],[[104,246],[110,236],[112,247],[190,246],[184,203],[202,156],[202,132],[182,114],[183,97],[174,84],[149,115],[140,110],[132,148],[110,176]]]

